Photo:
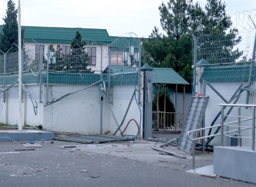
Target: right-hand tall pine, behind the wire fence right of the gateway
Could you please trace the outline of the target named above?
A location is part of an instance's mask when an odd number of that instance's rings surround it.
[[[201,11],[198,7],[191,7]],[[203,35],[198,37],[198,61],[204,58],[208,63],[231,63],[242,56],[243,52],[235,49],[242,39],[238,36],[238,29],[232,28],[225,7],[221,0],[207,0],[205,12],[201,13],[203,16],[194,18],[197,25],[191,29],[196,36]]]

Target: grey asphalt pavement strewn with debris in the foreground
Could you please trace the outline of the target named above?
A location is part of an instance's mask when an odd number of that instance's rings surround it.
[[[182,160],[170,155],[160,155],[152,150],[151,147],[155,145],[152,141],[35,143],[43,147],[27,148],[20,141],[0,142],[1,187],[255,186],[221,177],[186,173],[191,167],[190,156]],[[205,153],[205,156],[208,157],[198,155],[196,164],[201,165],[205,158],[208,163],[203,165],[212,163],[212,154]]]

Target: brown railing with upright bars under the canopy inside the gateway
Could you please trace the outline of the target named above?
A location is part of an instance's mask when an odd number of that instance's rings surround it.
[[[180,112],[152,112],[152,129],[157,131],[181,131],[183,122]]]

